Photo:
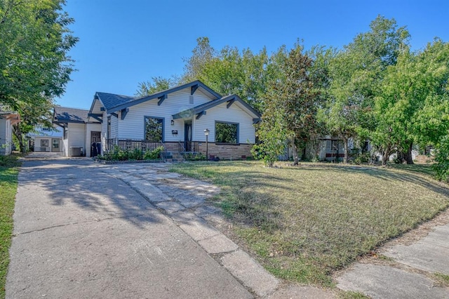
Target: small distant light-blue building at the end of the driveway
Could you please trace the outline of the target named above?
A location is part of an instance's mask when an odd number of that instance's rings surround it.
[[[62,152],[62,133],[60,126],[38,126],[32,133],[27,134],[29,149],[32,152]]]

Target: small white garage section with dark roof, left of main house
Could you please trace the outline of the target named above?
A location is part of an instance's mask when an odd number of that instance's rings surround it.
[[[91,157],[91,144],[100,142],[100,121],[91,120],[88,110],[55,107],[53,124],[62,128],[62,153],[66,157]]]

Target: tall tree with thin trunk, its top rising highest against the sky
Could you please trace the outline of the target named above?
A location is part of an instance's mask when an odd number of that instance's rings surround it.
[[[375,128],[370,111],[385,70],[396,64],[399,48],[408,39],[404,27],[378,16],[370,31],[358,34],[330,63],[332,79],[324,109],[330,133],[344,142],[344,162],[349,157],[349,139]]]

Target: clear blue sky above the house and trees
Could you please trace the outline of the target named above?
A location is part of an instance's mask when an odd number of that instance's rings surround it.
[[[406,26],[418,50],[435,36],[449,41],[448,8],[446,0],[67,0],[77,71],[56,103],[88,109],[96,91],[134,95],[139,82],[182,74],[200,36],[217,50],[271,53],[298,38],[305,48],[341,48],[383,15]]]

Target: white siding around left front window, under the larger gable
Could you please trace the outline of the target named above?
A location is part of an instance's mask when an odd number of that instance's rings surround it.
[[[175,124],[172,126],[170,124],[171,116],[210,101],[210,98],[201,93],[201,91],[196,91],[194,94],[193,104],[189,103],[189,96],[190,88],[186,88],[182,91],[168,94],[168,97],[160,106],[157,105],[158,100],[154,99],[129,107],[129,112],[124,120],[121,120],[121,115],[119,114],[117,137],[121,139],[144,139],[145,117],[160,117],[164,119],[165,142],[184,140],[184,121],[175,119]],[[172,134],[173,130],[177,131],[177,135]]]

